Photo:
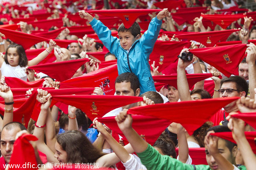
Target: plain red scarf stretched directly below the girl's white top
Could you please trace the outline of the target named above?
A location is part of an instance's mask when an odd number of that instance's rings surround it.
[[[15,77],[5,77],[5,83],[11,88],[40,88],[43,86],[44,79],[27,82]]]

